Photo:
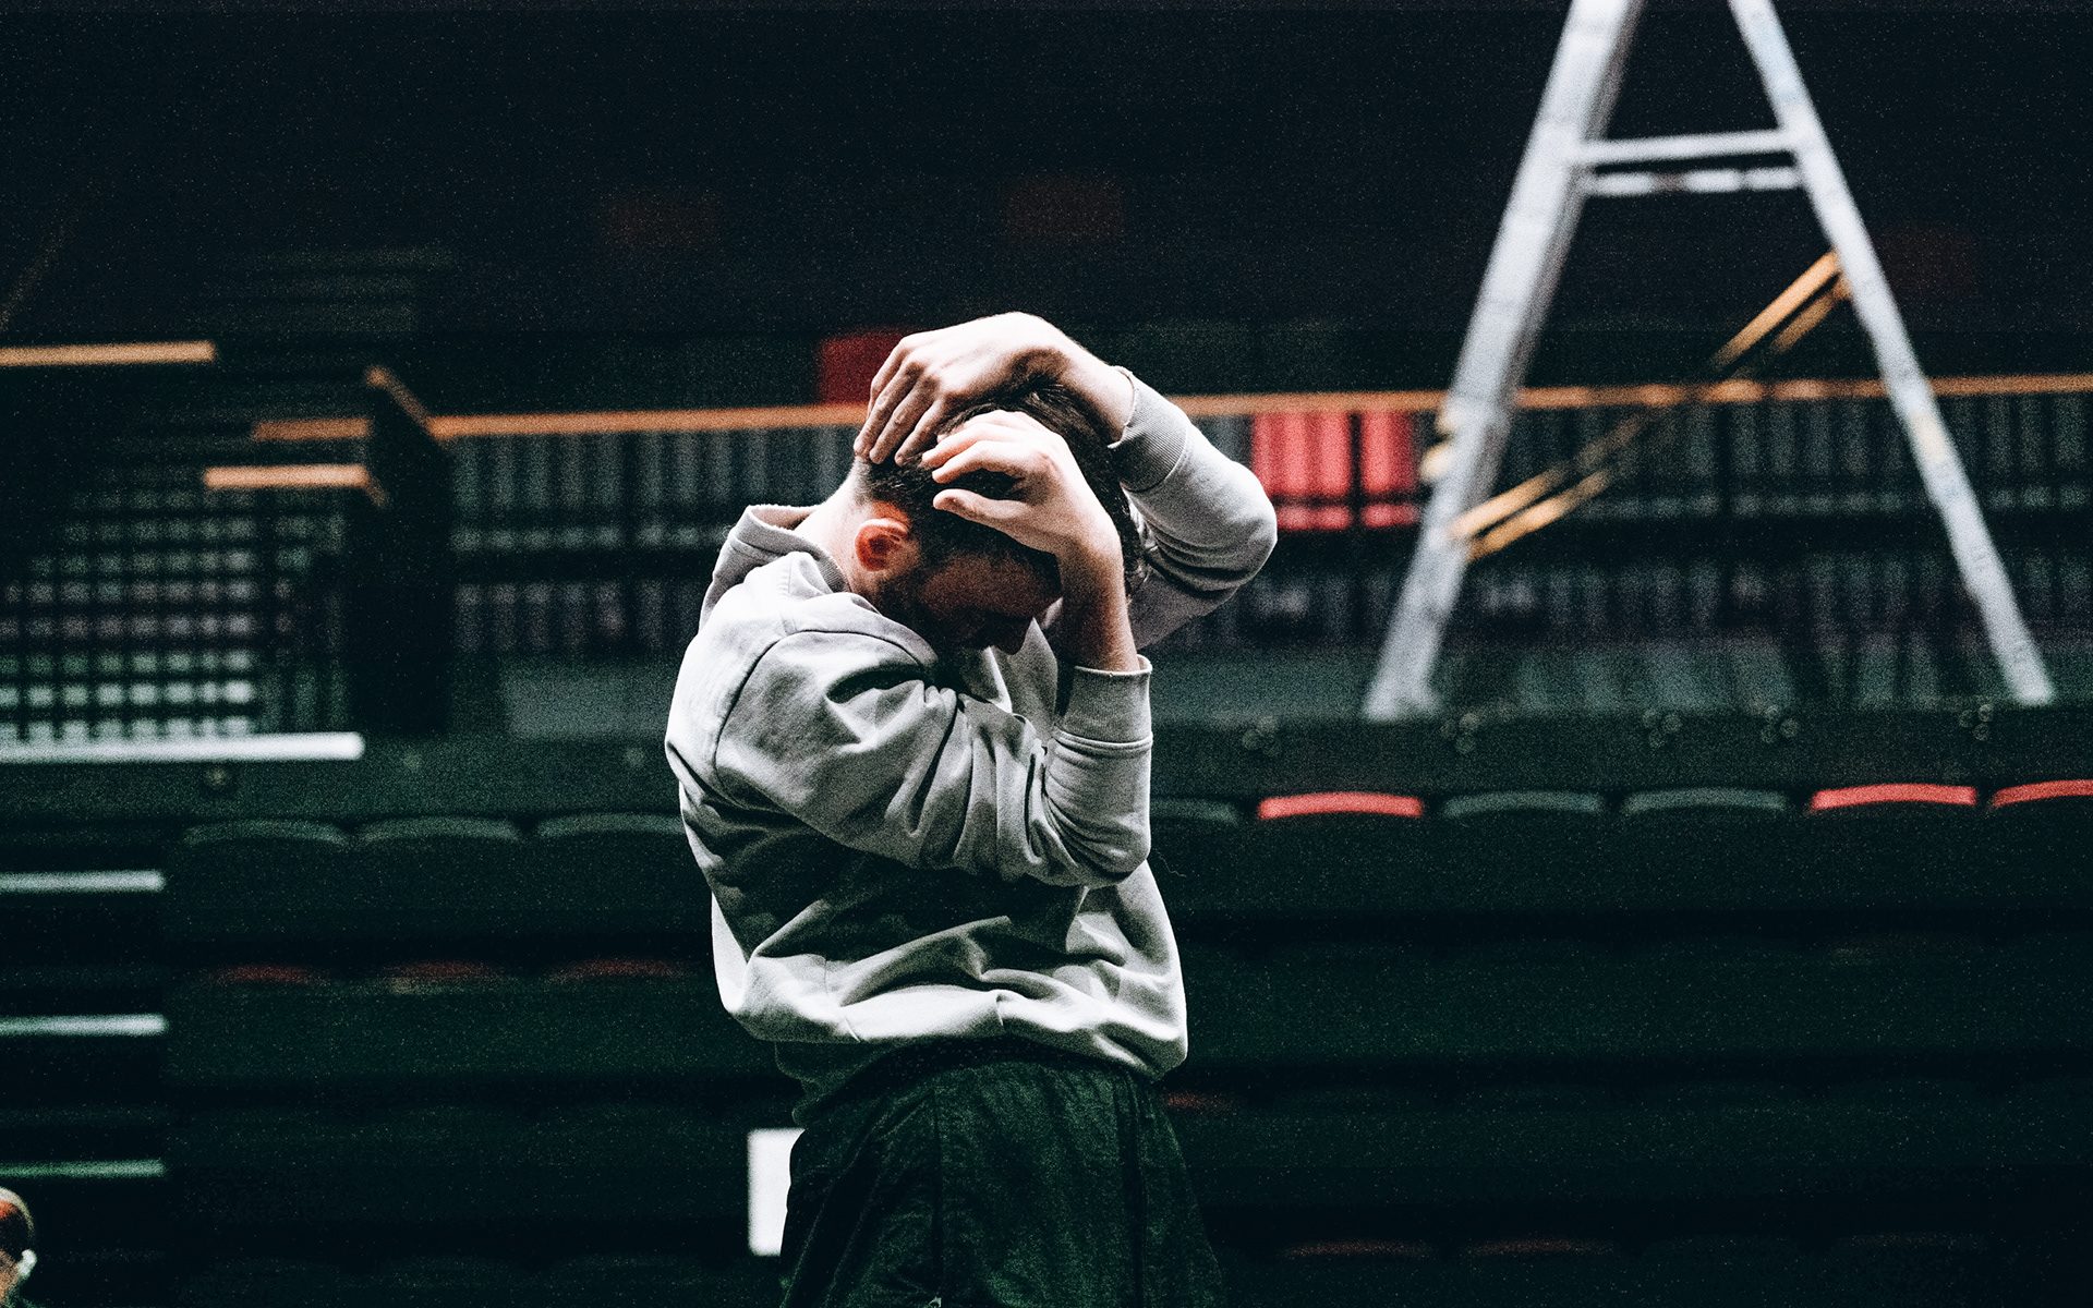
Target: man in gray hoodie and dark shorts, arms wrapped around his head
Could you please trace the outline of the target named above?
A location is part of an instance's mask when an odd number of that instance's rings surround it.
[[[1273,506],[1026,314],[904,339],[856,454],[743,513],[668,724],[720,996],[804,1090],[785,1304],[1218,1304],[1139,647]]]

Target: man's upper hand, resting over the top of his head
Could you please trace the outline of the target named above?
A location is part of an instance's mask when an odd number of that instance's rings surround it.
[[[1132,416],[1132,385],[1109,364],[1044,318],[996,314],[902,337],[873,377],[854,452],[906,463],[950,414],[1036,381],[1065,385],[1109,431]]]

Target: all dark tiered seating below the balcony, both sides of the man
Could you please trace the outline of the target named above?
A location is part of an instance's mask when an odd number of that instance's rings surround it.
[[[2068,1302],[2093,787],[2070,716],[2034,722],[1997,724],[2024,766],[1930,720],[1880,724],[1894,756],[1869,724],[1859,756],[1702,747],[1756,722],[1662,749],[1635,722],[1465,751],[1436,724],[1166,732],[1193,1021],[1166,1092],[1235,1300]],[[747,1134],[791,1092],[720,1013],[645,758],[375,741],[216,789],[84,774],[0,774],[77,818],[10,858],[165,869],[167,1080],[100,1103],[103,1072],[40,1057],[0,1095],[46,1153],[165,1159],[174,1302],[774,1293]],[[96,915],[19,902],[48,956],[0,996],[157,994]],[[132,1201],[33,1180],[46,1222]]]

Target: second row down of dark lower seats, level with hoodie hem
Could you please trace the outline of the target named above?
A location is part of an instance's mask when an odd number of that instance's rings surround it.
[[[1434,956],[1388,944],[1187,946],[1201,1067],[1415,1067],[1488,1059],[2036,1057],[2093,1053],[2093,931],[1988,946],[1882,933],[1798,950],[1752,938],[1610,952],[1576,940]],[[737,1078],[770,1059],[710,975],[435,975],[297,969],[167,996],[188,1086]]]

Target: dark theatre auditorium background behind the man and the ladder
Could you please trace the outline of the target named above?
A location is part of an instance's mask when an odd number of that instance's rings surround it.
[[[1584,207],[1360,703],[1566,2],[0,19],[0,1185],[57,1306],[774,1302],[789,1086],[659,739],[904,333],[1040,314],[1281,511],[1155,651],[1170,1103],[1243,1304],[2076,1304],[2093,10],[1792,0],[2057,705],[1798,193]],[[1771,126],[1653,0],[1610,136]]]

